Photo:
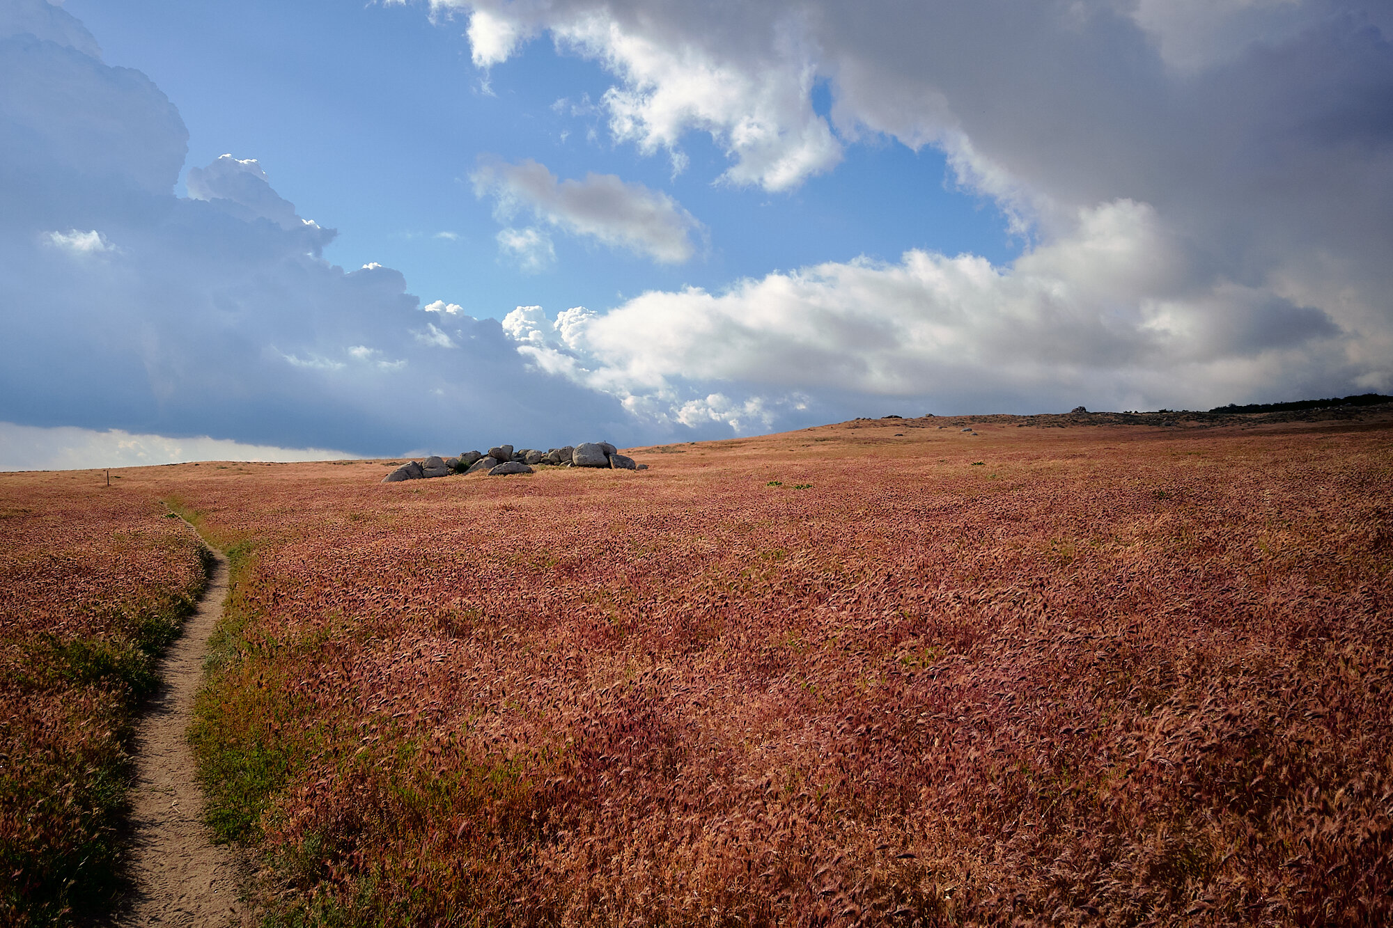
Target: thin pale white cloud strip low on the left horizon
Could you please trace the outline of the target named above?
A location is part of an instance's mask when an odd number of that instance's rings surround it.
[[[185,461],[337,461],[352,454],[323,447],[244,444],[206,435],[167,438],[121,429],[36,428],[0,422],[0,471],[148,467]]]

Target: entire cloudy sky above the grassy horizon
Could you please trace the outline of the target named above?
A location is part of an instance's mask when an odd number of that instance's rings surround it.
[[[1368,0],[0,0],[0,468],[1387,392],[1390,36]]]

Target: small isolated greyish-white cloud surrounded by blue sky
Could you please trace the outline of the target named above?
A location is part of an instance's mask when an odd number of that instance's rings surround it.
[[[692,256],[692,235],[701,223],[662,191],[624,183],[614,174],[586,174],[584,180],[559,181],[543,164],[486,162],[472,176],[475,194],[493,196],[500,216],[520,210],[575,235],[589,235],[606,245],[646,255],[663,263]],[[536,229],[507,229],[499,242],[508,251],[532,256],[539,252]],[[546,241],[545,252],[550,252]]]

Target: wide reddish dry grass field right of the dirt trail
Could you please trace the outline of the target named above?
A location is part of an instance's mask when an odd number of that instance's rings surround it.
[[[270,924],[1393,920],[1393,419],[961,422],[84,499],[233,557],[194,737]]]

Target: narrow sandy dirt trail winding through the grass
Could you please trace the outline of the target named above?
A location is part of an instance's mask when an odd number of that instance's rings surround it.
[[[135,890],[117,917],[118,925],[252,924],[240,900],[247,867],[235,850],[209,840],[202,821],[203,791],[188,743],[203,654],[227,598],[227,559],[213,553],[216,564],[209,571],[208,589],[198,610],[184,623],[184,634],[160,662],[164,686],[149,701],[135,737],[137,778],[131,791]]]

